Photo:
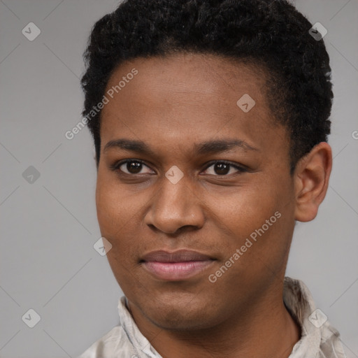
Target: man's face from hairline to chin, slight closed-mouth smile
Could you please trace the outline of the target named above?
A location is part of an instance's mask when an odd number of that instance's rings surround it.
[[[99,226],[130,305],[158,327],[213,327],[281,294],[294,182],[264,78],[173,55],[121,64],[108,82]]]

